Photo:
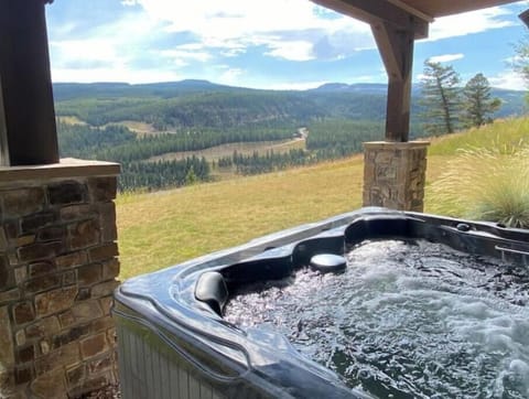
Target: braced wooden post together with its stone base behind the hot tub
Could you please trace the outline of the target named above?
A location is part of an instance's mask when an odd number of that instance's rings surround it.
[[[371,23],[388,73],[386,141],[364,143],[364,206],[422,212],[427,142],[409,142],[411,73],[417,31],[387,21]]]

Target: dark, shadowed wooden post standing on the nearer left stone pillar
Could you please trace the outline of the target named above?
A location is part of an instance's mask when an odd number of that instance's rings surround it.
[[[8,145],[4,164],[58,162],[44,12],[47,2],[0,1],[0,142]]]

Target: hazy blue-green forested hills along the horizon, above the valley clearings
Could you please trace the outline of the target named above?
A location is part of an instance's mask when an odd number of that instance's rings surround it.
[[[381,121],[386,85],[326,84],[304,91],[258,90],[182,80],[129,85],[122,83],[55,84],[56,111],[91,126],[122,120],[151,123],[156,130],[179,128],[252,128],[304,126],[326,118]],[[503,100],[496,117],[523,112],[523,93],[493,89]],[[420,88],[413,89],[417,115]]]

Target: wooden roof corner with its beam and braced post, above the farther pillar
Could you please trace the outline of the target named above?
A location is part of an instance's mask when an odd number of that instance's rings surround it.
[[[409,139],[413,45],[438,17],[512,3],[512,0],[312,0],[371,25],[388,73],[386,141]]]

